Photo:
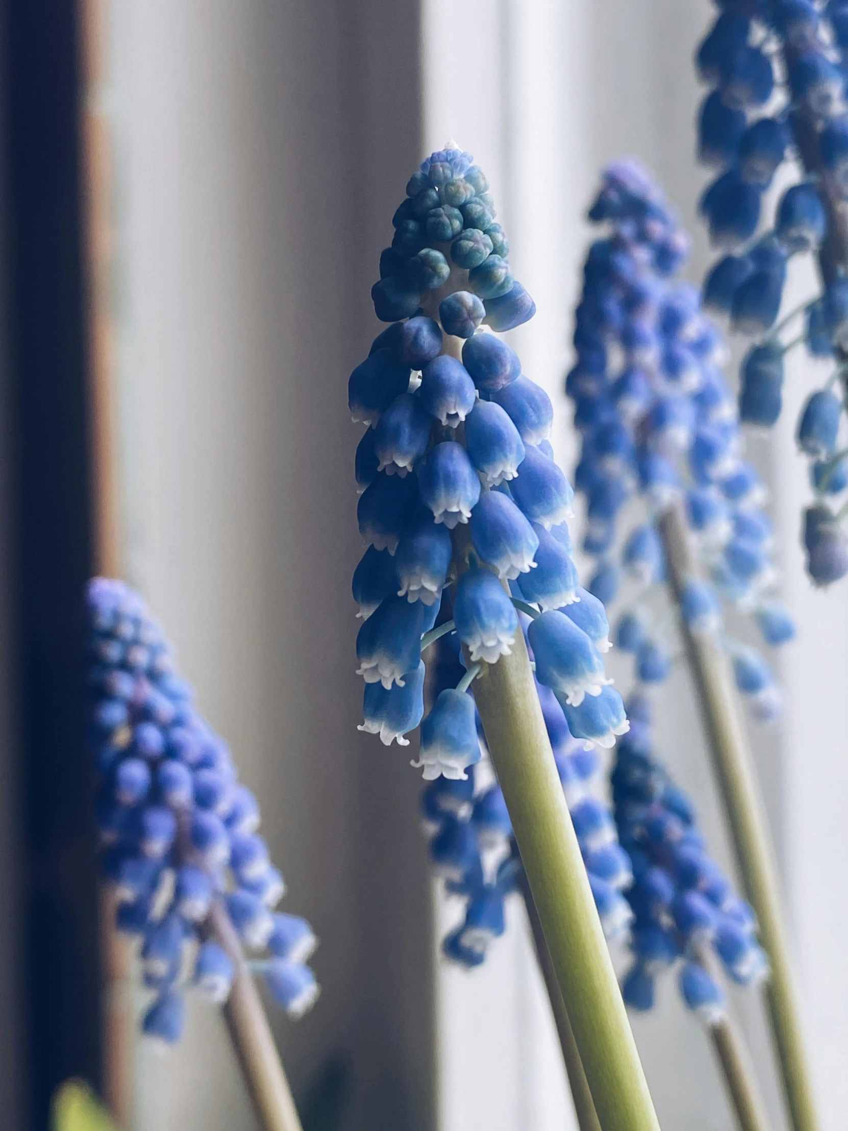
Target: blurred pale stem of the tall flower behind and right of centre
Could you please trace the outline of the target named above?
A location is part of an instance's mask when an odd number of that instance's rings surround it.
[[[672,592],[680,602],[686,579],[696,571],[678,508],[672,507],[663,515],[659,529]],[[771,964],[765,996],[791,1125],[795,1131],[815,1131],[819,1123],[789,968],[773,849],[736,691],[719,645],[708,637],[693,636],[685,624],[683,638],[745,893],[760,921],[760,939]]]

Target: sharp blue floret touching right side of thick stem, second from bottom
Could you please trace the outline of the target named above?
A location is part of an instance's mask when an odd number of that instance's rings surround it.
[[[527,638],[536,659],[536,679],[563,696],[568,703],[577,707],[587,694],[598,697],[608,683],[595,645],[563,613],[543,613],[530,623]],[[583,737],[576,734],[570,723],[569,727],[576,737]]]

